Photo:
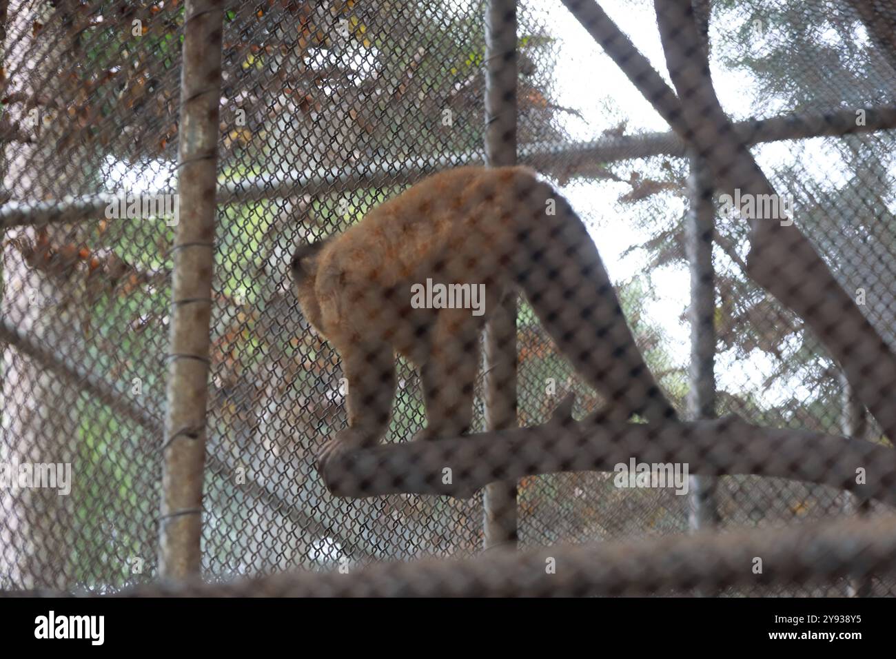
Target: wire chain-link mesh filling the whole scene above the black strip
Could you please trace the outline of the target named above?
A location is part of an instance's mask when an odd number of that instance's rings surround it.
[[[896,4],[0,11],[0,588],[893,594]]]

